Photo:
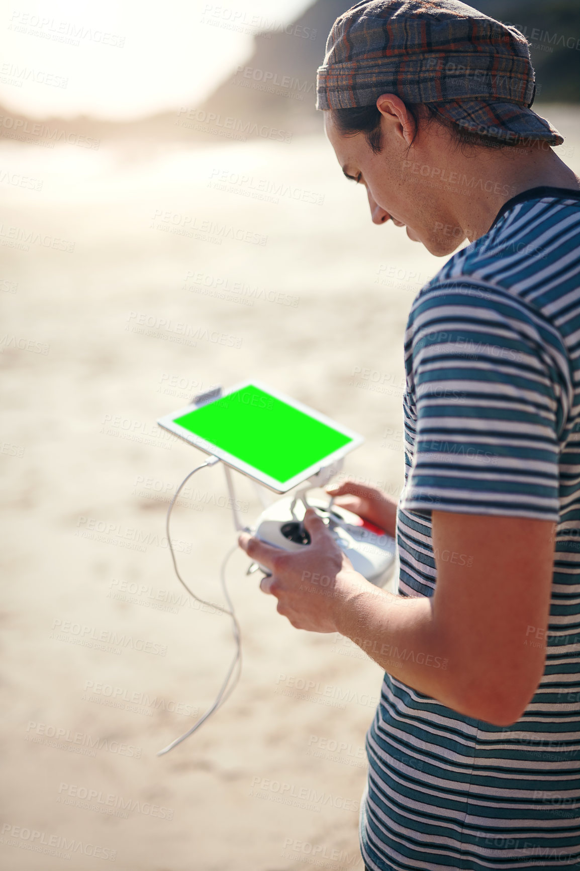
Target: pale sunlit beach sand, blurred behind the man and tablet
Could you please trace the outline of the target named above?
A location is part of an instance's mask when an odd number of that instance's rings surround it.
[[[537,111],[580,172],[580,111]],[[2,185],[3,868],[361,868],[381,670],[295,631],[241,551],[239,685],[156,756],[233,654],[228,618],[192,606],[165,546],[167,503],[202,455],[156,419],[260,378],[366,437],[348,473],[401,488],[403,331],[443,260],[371,224],[317,121],[290,142],[0,141],[4,170],[42,182]],[[236,485],[251,523],[260,503]],[[172,527],[214,602],[235,543],[224,506],[223,470],[205,469]]]

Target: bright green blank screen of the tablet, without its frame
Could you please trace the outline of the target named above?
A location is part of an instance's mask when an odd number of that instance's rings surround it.
[[[353,441],[253,384],[175,422],[280,483]]]

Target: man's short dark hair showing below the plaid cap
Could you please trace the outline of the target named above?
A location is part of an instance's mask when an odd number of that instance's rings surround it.
[[[480,133],[470,133],[467,130],[463,130],[461,126],[448,121],[447,118],[443,118],[432,103],[407,103],[406,105],[415,121],[415,133],[411,145],[415,142],[419,125],[425,124],[430,126],[434,122],[446,127],[453,133],[457,147],[479,145],[484,148],[502,148],[517,145],[516,138],[502,140],[493,136],[484,136]],[[381,112],[377,109],[376,105],[357,106],[354,109],[332,109],[331,111],[334,123],[343,136],[354,136],[356,133],[364,133],[373,153],[379,154],[382,151]]]

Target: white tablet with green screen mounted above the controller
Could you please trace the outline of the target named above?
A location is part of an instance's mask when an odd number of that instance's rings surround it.
[[[260,381],[244,381],[203,405],[193,402],[158,424],[276,493],[287,493],[364,441]]]

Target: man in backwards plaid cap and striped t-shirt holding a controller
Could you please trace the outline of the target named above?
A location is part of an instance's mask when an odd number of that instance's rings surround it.
[[[330,490],[396,525],[399,594],[354,572],[311,510],[300,554],[240,537],[292,625],[385,669],[372,871],[580,867],[580,182],[534,91],[522,35],[455,0],[357,3],[319,70],[327,137],[374,223],[438,255],[470,243],[409,314],[398,510]]]

